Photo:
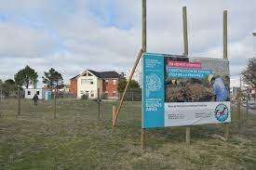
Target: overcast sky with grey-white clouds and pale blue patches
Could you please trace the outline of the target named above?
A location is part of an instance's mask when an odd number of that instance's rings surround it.
[[[231,74],[256,53],[255,0],[148,0],[148,52],[182,54],[182,7],[189,54],[222,59],[222,11],[228,10]],[[254,46],[254,47],[253,47]],[[122,71],[141,48],[141,0],[0,0],[0,79],[30,65],[65,82],[86,69]],[[232,76],[232,85],[237,76]]]

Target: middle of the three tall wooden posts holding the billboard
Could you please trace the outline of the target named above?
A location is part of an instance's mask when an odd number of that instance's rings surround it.
[[[182,7],[183,19],[183,55],[188,57],[187,8]],[[190,126],[186,126],[186,143],[190,144]]]

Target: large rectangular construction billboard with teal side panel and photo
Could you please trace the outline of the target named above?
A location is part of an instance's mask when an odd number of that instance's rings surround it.
[[[143,128],[231,122],[229,61],[144,53]]]

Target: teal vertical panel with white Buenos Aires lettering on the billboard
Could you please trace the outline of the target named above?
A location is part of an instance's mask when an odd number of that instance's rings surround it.
[[[164,55],[144,53],[143,64],[143,128],[164,127]]]

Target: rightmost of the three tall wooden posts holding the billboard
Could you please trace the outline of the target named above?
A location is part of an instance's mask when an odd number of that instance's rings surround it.
[[[223,11],[223,59],[227,58],[227,10]],[[224,137],[228,140],[229,124],[224,124]]]

